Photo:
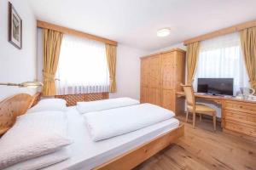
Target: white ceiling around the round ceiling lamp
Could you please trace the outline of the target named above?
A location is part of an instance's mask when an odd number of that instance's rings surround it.
[[[256,0],[29,0],[38,20],[155,50],[256,19]],[[169,37],[156,31],[170,27]]]

